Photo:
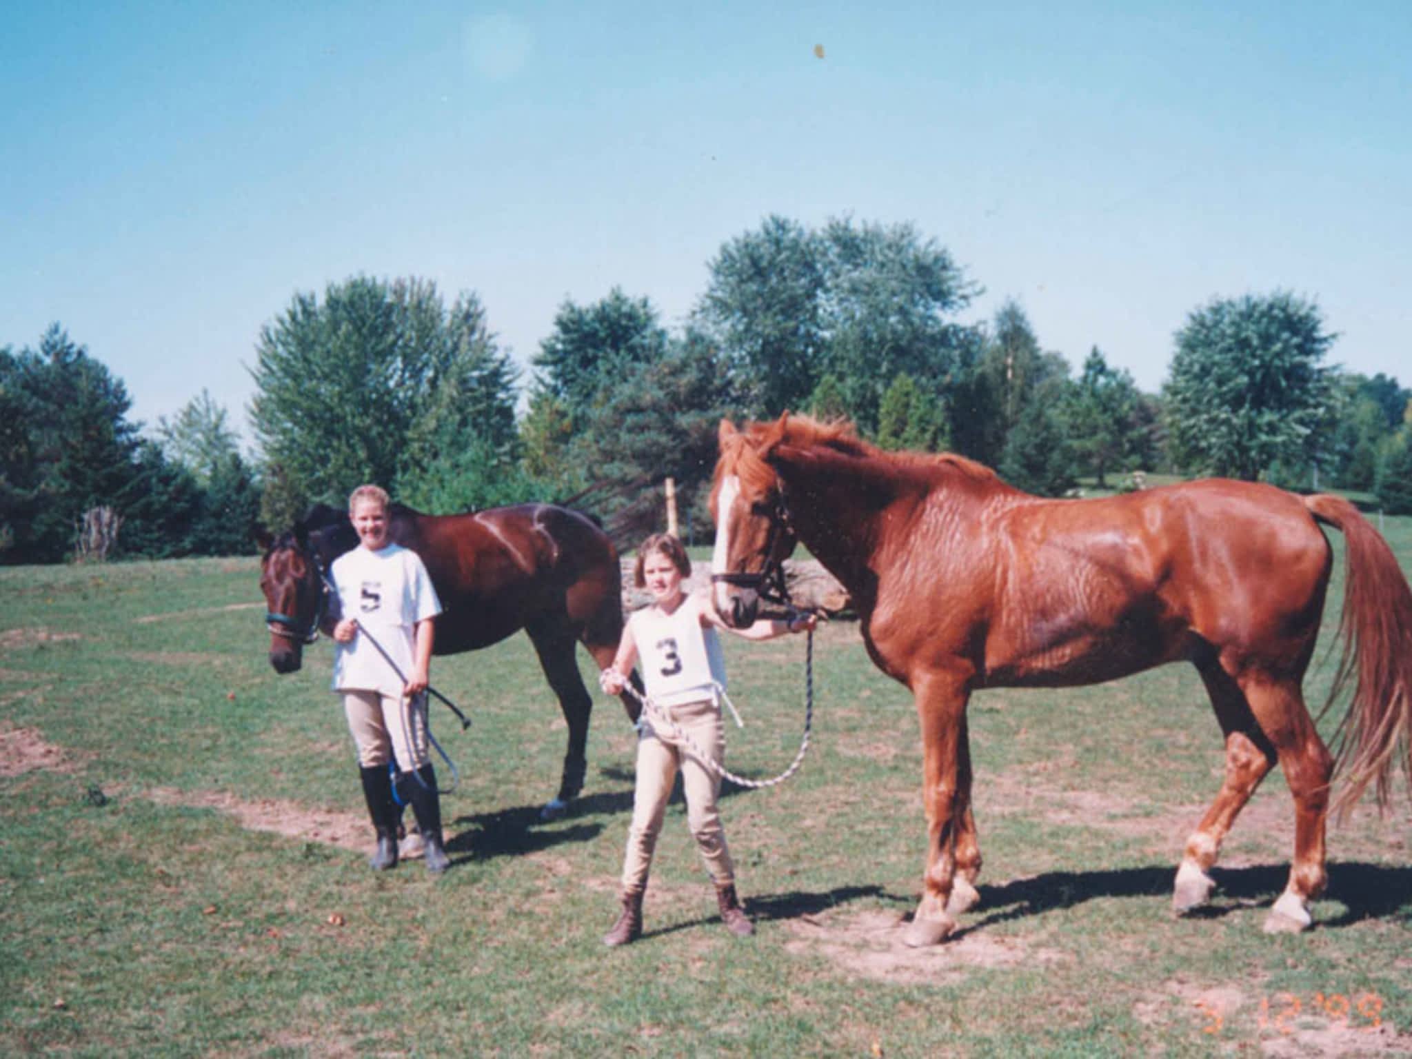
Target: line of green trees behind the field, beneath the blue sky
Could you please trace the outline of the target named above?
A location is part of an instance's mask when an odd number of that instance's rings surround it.
[[[1213,298],[1173,339],[1159,394],[1091,349],[1077,370],[1024,309],[963,325],[980,292],[909,225],[771,216],[726,244],[678,328],[614,288],[565,301],[521,377],[473,292],[364,275],[294,295],[256,342],[256,455],[202,391],[144,435],[123,383],[55,323],[0,347],[0,562],[250,549],[360,481],[428,511],[572,500],[624,537],[675,479],[706,535],[722,417],[846,417],[884,449],[955,450],[1045,496],[1132,472],[1374,494],[1412,513],[1409,398],[1340,371],[1289,292]]]

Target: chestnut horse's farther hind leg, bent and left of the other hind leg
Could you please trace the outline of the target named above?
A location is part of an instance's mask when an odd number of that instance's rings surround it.
[[[1200,908],[1210,899],[1216,881],[1207,873],[1220,856],[1221,843],[1236,816],[1275,764],[1275,748],[1261,731],[1236,681],[1214,661],[1202,666],[1200,674],[1216,709],[1216,720],[1226,736],[1226,778],[1211,808],[1186,839],[1172,891],[1172,911],[1178,915]]]

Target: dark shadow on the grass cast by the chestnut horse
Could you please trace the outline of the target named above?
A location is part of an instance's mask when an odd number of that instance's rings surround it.
[[[1022,919],[1055,909],[1073,908],[1104,897],[1151,897],[1168,899],[1175,870],[1166,866],[1117,868],[1113,871],[1046,871],[1000,885],[980,885],[984,918],[969,922],[955,936],[960,938],[993,923]],[[1189,912],[1192,918],[1220,919],[1255,905],[1271,905],[1289,880],[1288,864],[1257,864],[1211,870],[1216,894],[1211,904]],[[1412,915],[1412,867],[1365,863],[1329,864],[1329,888],[1324,898],[1344,905],[1332,919],[1317,919],[1320,928],[1348,926],[1364,919]],[[994,909],[986,912],[984,909]]]

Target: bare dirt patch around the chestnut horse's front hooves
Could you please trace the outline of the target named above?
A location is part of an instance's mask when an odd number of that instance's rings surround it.
[[[1015,967],[1058,963],[1063,955],[993,931],[974,931],[926,949],[902,942],[905,922],[894,912],[825,912],[788,923],[785,950],[820,956],[849,974],[892,983],[959,981],[977,967]]]

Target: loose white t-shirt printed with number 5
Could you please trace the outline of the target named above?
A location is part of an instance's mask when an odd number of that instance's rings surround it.
[[[441,600],[421,556],[397,544],[376,552],[359,545],[335,559],[329,573],[342,616],[357,618],[409,676],[417,623],[441,613]],[[353,642],[335,647],[333,690],[402,693],[401,679],[361,631]]]

